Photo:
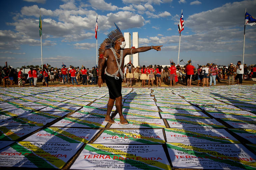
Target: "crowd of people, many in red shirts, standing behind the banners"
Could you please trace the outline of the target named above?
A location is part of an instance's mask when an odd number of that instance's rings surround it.
[[[207,63],[206,65],[198,65],[197,68],[192,65],[191,60],[184,66],[179,64],[176,66],[174,62],[170,66],[149,65],[142,67],[134,67],[132,63],[124,66],[123,82],[127,87],[132,87],[132,84],[138,81],[142,82],[142,87],[151,87],[155,84],[157,87],[162,86],[162,83],[169,86],[175,86],[178,82],[182,82],[187,86],[191,86],[192,80],[197,81],[198,86],[215,86],[216,81],[228,79],[228,85],[242,84],[243,80],[256,78],[256,65],[242,65],[238,61],[236,65],[230,63],[227,67],[218,67],[216,64]],[[92,69],[73,67],[70,65],[62,65],[62,68],[48,68],[48,64],[42,68],[29,68],[27,74],[24,74],[23,68],[14,69],[4,66],[1,69],[3,86],[10,87],[12,85],[24,86],[29,83],[29,86],[36,86],[37,82],[43,82],[43,85],[48,86],[49,82],[60,82],[63,84],[76,84],[82,82],[83,85],[96,85],[98,81],[98,68]],[[212,84],[213,83],[213,84]]]

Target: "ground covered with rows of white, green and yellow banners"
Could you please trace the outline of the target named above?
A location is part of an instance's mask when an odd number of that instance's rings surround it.
[[[106,87],[0,88],[0,166],[256,169],[255,87],[123,88],[128,125]]]

